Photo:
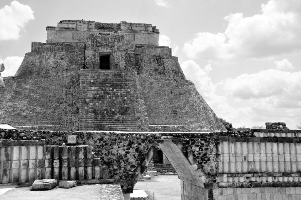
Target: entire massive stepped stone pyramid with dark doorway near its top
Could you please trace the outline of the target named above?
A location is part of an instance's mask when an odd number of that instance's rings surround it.
[[[226,130],[171,49],[158,45],[156,26],[63,20],[46,30],[46,43],[32,42],[15,76],[3,78],[2,124],[31,130]]]

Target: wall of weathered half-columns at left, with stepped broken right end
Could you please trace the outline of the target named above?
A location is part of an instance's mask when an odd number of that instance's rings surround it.
[[[45,140],[0,141],[0,184],[35,179],[111,183],[107,166],[92,158],[92,147],[45,146]]]

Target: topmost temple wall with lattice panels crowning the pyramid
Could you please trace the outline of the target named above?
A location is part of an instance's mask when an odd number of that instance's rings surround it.
[[[114,34],[124,36],[125,43],[158,45],[159,31],[151,24],[120,22],[100,23],[94,21],[63,20],[57,27],[47,27],[47,43],[82,42],[93,34]]]

